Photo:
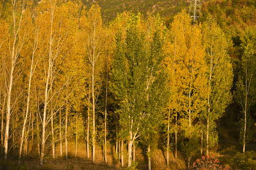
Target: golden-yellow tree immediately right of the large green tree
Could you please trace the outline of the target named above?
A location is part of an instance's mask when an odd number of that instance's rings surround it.
[[[171,85],[175,94],[171,100],[174,101],[175,111],[180,112],[180,126],[188,139],[184,144],[184,150],[189,157],[189,170],[191,156],[197,150],[198,126],[195,123],[206,99],[205,53],[201,43],[200,25],[192,26],[191,19],[185,11],[174,17],[171,28],[177,30],[172,34],[174,39],[170,45],[171,56],[168,66],[169,74],[173,75],[171,80],[176,81]]]

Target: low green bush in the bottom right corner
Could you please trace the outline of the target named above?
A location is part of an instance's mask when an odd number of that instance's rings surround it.
[[[256,152],[246,151],[245,153],[237,153],[233,161],[233,166],[241,170],[255,170]]]

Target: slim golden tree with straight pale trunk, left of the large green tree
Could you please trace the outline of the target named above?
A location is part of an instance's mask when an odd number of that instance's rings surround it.
[[[92,93],[92,107],[93,107],[93,162],[95,161],[95,106],[97,101],[96,91],[99,90],[99,70],[100,70],[100,56],[101,56],[101,46],[102,46],[102,19],[100,15],[100,7],[98,5],[93,5],[88,13],[83,11],[83,17],[81,17],[82,30],[84,31],[84,45],[86,50],[86,55],[90,63],[90,75],[91,75],[91,93]],[[86,16],[85,16],[86,15]],[[89,94],[90,95],[90,94]]]

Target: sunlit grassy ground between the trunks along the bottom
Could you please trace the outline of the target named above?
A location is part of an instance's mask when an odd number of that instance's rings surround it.
[[[118,155],[115,153],[114,145],[109,145],[107,149],[107,161],[105,164],[103,154],[100,146],[96,146],[95,163],[90,158],[86,158],[86,145],[79,143],[77,148],[77,156],[75,157],[75,143],[70,141],[68,143],[68,160],[65,156],[60,157],[59,146],[56,147],[56,159],[52,159],[52,155],[46,155],[44,160],[45,170],[124,170],[127,167],[127,153],[124,154],[124,168],[121,167],[121,163],[118,160]],[[63,147],[63,154],[65,147]],[[152,155],[152,170],[184,170],[186,169],[185,158],[178,152],[180,159],[174,159],[173,153],[169,154],[170,167],[166,165],[166,152],[163,150],[155,150]],[[38,156],[37,156],[38,157]],[[135,162],[137,162],[138,170],[148,169],[148,159],[146,155],[143,155],[142,148],[136,148]],[[27,156],[22,160],[22,163],[28,167],[28,170],[39,169],[39,159]]]

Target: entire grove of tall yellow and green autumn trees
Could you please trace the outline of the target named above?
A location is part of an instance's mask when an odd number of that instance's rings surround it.
[[[100,7],[78,0],[7,0],[0,3],[0,154],[37,150],[40,165],[60,146],[68,159],[74,137],[115,145],[122,167],[136,147],[147,148],[148,167],[171,136],[187,157],[209,155],[218,144],[216,120],[234,101],[242,108],[243,152],[252,140],[256,94],[256,27],[241,38],[241,69],[233,81],[230,40],[211,16],[192,23],[183,10],[166,26],[159,16],[123,12],[104,23]],[[234,95],[231,88],[235,88]],[[234,98],[234,99],[233,99]],[[161,135],[159,135],[161,134]],[[127,146],[127,149],[126,149]],[[127,151],[126,151],[127,150]],[[92,152],[92,154],[91,154]]]

